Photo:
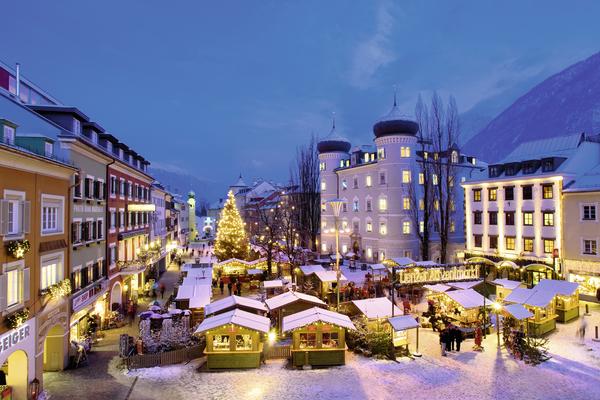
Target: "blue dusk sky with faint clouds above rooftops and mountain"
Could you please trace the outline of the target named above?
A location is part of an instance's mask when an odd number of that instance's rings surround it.
[[[510,104],[599,50],[596,1],[7,1],[0,57],[160,168],[219,193],[286,181],[337,126],[371,143],[393,86]]]

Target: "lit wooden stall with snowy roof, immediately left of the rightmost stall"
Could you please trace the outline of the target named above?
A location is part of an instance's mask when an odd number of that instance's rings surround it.
[[[536,288],[517,288],[506,296],[504,301],[508,304],[522,304],[533,313],[533,316],[527,319],[527,332],[530,336],[540,337],[556,329],[557,315],[553,292]]]

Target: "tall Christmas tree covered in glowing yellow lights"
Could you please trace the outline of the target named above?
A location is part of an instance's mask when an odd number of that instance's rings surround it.
[[[217,228],[215,256],[219,261],[230,258],[245,260],[248,256],[248,247],[244,221],[235,205],[233,192],[229,191]]]

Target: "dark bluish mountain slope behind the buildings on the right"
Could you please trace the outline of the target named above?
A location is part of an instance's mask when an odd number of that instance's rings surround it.
[[[529,140],[600,131],[600,52],[544,80],[468,140],[487,162]]]

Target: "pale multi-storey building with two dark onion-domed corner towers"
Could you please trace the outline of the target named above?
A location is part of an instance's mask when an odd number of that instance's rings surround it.
[[[329,135],[319,141],[322,254],[335,254],[334,214],[328,202],[339,198],[344,201],[338,223],[343,255],[356,255],[365,262],[420,259],[415,232],[418,224],[410,200],[411,193],[414,199],[423,190],[419,163],[424,152],[418,132],[419,125],[403,116],[394,100],[389,114],[373,126],[372,145],[353,147],[338,133],[335,122]],[[475,158],[461,154],[456,145],[436,156],[456,163],[461,181],[482,167]],[[448,262],[456,261],[456,253],[464,249],[463,192],[456,186]],[[434,226],[430,245],[433,261],[440,260],[436,231]]]

